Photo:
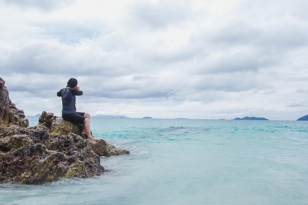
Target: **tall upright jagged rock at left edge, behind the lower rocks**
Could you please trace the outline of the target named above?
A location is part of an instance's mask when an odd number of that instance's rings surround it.
[[[24,111],[17,109],[16,105],[11,102],[4,84],[5,81],[0,78],[0,132],[4,127],[10,125],[28,127],[29,120],[26,118]]]

